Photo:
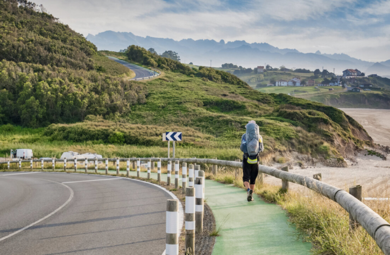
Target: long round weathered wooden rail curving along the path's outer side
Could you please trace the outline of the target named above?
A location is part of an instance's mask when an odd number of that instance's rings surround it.
[[[140,158],[141,161],[157,161],[156,157]],[[209,158],[160,158],[161,161],[175,161],[198,164],[220,165],[233,168],[241,168],[242,163],[236,161],[209,159]],[[85,162],[85,158],[79,158],[77,161]],[[88,158],[88,161],[95,161],[95,158]],[[106,158],[98,158],[98,161],[105,161]],[[119,161],[127,161],[128,158],[120,158]],[[41,162],[41,159],[33,159],[33,162]],[[53,159],[44,159],[44,162],[52,162]],[[55,159],[55,162],[63,162],[64,159]],[[69,158],[69,163],[74,159]],[[108,158],[108,161],[117,161],[117,158]],[[130,158],[130,161],[137,161],[137,158]],[[21,162],[31,162],[28,160],[21,160]],[[0,162],[0,164],[7,164],[8,161]],[[19,160],[9,161],[9,163],[19,163]],[[372,211],[367,205],[351,196],[348,192],[334,187],[325,182],[313,179],[312,177],[301,176],[289,172],[281,171],[272,167],[259,165],[259,172],[285,180],[299,185],[305,186],[319,194],[328,197],[337,202],[343,207],[351,216],[360,223],[360,225],[369,233],[369,235],[376,241],[379,248],[385,255],[390,255],[390,224],[381,216]]]

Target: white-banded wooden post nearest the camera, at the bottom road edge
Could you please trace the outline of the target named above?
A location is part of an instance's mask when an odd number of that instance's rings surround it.
[[[167,200],[165,254],[179,254],[179,200]]]

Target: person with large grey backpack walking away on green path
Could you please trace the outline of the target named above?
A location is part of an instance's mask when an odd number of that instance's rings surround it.
[[[264,150],[263,138],[259,133],[256,121],[251,120],[245,125],[246,133],[241,137],[240,149],[244,153],[242,158],[242,181],[247,189],[248,202],[253,201],[254,184],[259,172],[259,153]]]

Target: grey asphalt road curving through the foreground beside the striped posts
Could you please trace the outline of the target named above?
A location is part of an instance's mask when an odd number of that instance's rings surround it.
[[[161,255],[170,198],[124,178],[0,173],[0,254]]]

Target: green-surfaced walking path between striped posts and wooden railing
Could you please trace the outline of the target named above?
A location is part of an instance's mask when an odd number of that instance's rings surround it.
[[[130,176],[137,176],[137,172],[130,171]],[[141,172],[140,177],[146,178],[147,173]],[[151,173],[151,178],[157,179],[157,174]],[[167,175],[161,174],[161,180],[166,181]],[[174,174],[171,182],[175,183]],[[312,254],[312,244],[298,238],[297,230],[278,205],[266,203],[256,195],[254,201],[248,202],[244,189],[213,180],[206,180],[205,201],[213,211],[216,228],[221,226],[213,255]]]

